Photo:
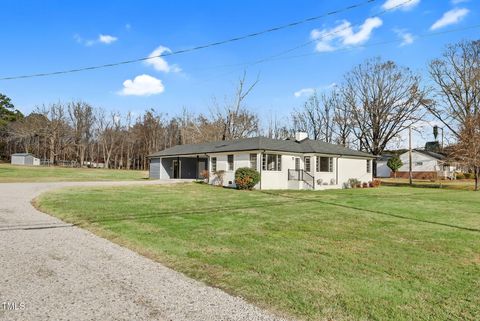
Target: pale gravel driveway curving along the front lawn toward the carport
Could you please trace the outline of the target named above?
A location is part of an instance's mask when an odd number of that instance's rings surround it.
[[[52,188],[161,183],[0,184],[0,319],[279,320],[30,205]]]

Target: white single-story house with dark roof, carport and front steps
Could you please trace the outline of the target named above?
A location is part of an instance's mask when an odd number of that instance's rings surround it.
[[[258,170],[258,189],[342,188],[350,178],[372,180],[373,155],[339,145],[310,140],[245,138],[195,145],[178,145],[149,155],[150,178],[196,179],[209,172],[209,183],[218,184],[217,171],[225,171],[223,185],[235,187],[235,170]]]

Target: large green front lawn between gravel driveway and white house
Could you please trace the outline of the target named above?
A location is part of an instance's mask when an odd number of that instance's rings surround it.
[[[307,320],[478,320],[480,193],[70,188],[36,205]]]

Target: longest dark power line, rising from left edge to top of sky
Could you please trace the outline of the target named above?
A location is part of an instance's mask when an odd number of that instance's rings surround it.
[[[232,43],[232,42],[237,42],[237,41],[245,40],[245,39],[248,39],[248,38],[254,38],[254,37],[257,37],[257,36],[260,36],[260,35],[264,35],[264,34],[267,34],[267,33],[279,31],[279,30],[282,30],[282,29],[291,28],[291,27],[298,26],[298,25],[301,25],[301,24],[304,24],[304,23],[316,21],[316,20],[319,20],[321,18],[325,18],[325,17],[328,17],[328,16],[332,16],[332,15],[336,15],[336,14],[345,12],[345,11],[349,11],[349,10],[352,10],[352,9],[355,9],[355,8],[359,8],[359,7],[362,7],[364,5],[373,3],[375,1],[377,1],[377,0],[367,0],[367,1],[364,1],[364,2],[359,2],[359,3],[353,4],[353,5],[341,8],[341,9],[337,9],[337,10],[327,12],[327,13],[322,14],[322,15],[318,15],[318,16],[302,19],[302,20],[299,20],[299,21],[287,23],[287,24],[284,24],[284,25],[281,25],[281,26],[265,29],[265,30],[258,31],[258,32],[249,33],[249,34],[246,34],[246,35],[243,35],[243,36],[238,36],[238,37],[234,37],[234,38],[230,38],[230,39],[226,39],[226,40],[222,40],[222,41],[212,42],[212,43],[208,43],[208,44],[205,44],[205,45],[200,45],[200,46],[196,46],[196,47],[191,47],[191,48],[176,50],[176,51],[171,51],[171,52],[165,52],[165,53],[162,53],[162,54],[156,55],[156,56],[142,57],[142,58],[136,58],[136,59],[125,60],[125,61],[120,61],[120,62],[114,62],[114,63],[108,63],[108,64],[102,64],[102,65],[96,65],[96,66],[89,66],[89,67],[81,67],[81,68],[75,68],[75,69],[69,69],[69,70],[61,70],[61,71],[54,71],[54,72],[45,72],[45,73],[37,73],[37,74],[2,77],[2,78],[0,78],[0,80],[14,80],[14,79],[25,79],[25,78],[54,76],[54,75],[61,75],[61,74],[68,74],[68,73],[74,73],[74,72],[81,72],[81,71],[87,71],[87,70],[94,70],[94,69],[109,68],[109,67],[115,67],[115,66],[120,66],[120,65],[132,64],[132,63],[142,62],[142,61],[146,61],[146,60],[150,60],[150,59],[154,59],[154,58],[159,58],[159,57],[179,55],[179,54],[188,53],[188,52],[192,52],[192,51],[197,51],[197,50],[201,50],[201,49],[206,49],[206,48],[210,48],[210,47],[216,47],[216,46],[220,46],[220,45],[224,45],[224,44],[228,44],[228,43]],[[413,1],[413,0],[408,0],[405,3],[408,3],[408,2],[411,2],[411,1]]]

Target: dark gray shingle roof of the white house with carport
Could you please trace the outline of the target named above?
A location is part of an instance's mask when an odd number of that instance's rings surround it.
[[[250,150],[266,150],[291,153],[319,153],[329,155],[345,155],[358,157],[374,157],[371,154],[345,148],[340,145],[329,144],[318,140],[305,139],[295,141],[291,139],[271,139],[266,137],[243,138],[231,141],[217,141],[204,144],[177,145],[167,148],[149,157],[197,155],[206,153],[222,153]]]

